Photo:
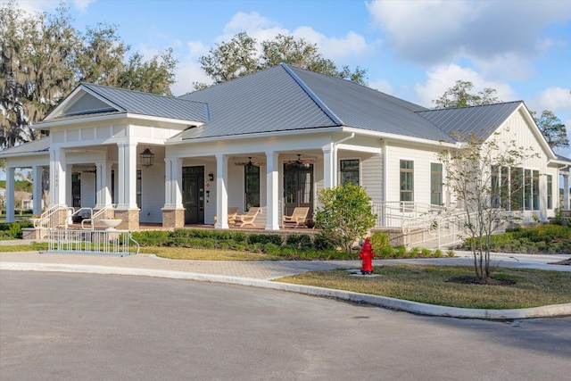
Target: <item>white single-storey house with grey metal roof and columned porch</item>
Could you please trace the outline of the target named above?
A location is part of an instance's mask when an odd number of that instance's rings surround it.
[[[49,170],[50,205],[115,205],[120,228],[131,230],[228,228],[228,207],[252,206],[261,207],[257,227],[278,230],[284,214],[303,206],[311,215],[322,188],[345,182],[367,189],[377,225],[388,226],[389,205],[454,201],[436,153],[461,147],[455,132],[508,128],[539,153],[520,169],[529,181],[515,212],[531,221],[569,209],[571,161],[552,152],[523,102],[430,110],[286,64],[180,97],[84,83],[34,128],[49,137],[0,153],[7,178],[15,168],[36,179]],[[6,187],[13,220],[12,181]]]

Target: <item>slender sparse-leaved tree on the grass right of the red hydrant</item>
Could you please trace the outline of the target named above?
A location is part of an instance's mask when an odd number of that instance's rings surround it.
[[[492,233],[506,219],[514,219],[509,210],[523,201],[527,179],[517,166],[537,154],[531,147],[517,145],[513,138],[501,141],[499,133],[485,140],[469,135],[459,141],[465,142],[462,148],[443,150],[438,158],[443,163],[444,185],[451,188],[465,213],[476,277],[485,279],[491,275]],[[509,175],[509,181],[504,175]]]

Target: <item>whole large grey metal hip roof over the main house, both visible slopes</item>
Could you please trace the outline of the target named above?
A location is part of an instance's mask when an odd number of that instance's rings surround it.
[[[211,120],[173,140],[347,126],[451,141],[422,106],[284,63],[181,98],[209,104]]]

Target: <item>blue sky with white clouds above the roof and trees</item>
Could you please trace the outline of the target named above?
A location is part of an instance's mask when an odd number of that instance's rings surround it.
[[[18,0],[27,12],[58,1]],[[571,0],[68,0],[80,30],[114,25],[151,58],[171,47],[174,95],[211,83],[198,58],[237,33],[258,41],[290,34],[319,46],[338,67],[368,70],[369,87],[434,107],[458,80],[504,102],[550,110],[571,141]],[[571,158],[571,148],[556,153]]]

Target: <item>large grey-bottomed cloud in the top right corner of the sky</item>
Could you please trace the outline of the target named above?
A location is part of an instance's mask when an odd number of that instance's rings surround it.
[[[554,46],[543,29],[571,14],[568,1],[372,1],[374,25],[397,57],[428,67],[468,58],[521,78],[526,60]],[[563,38],[563,37],[562,37]],[[505,60],[508,60],[508,66]],[[523,65],[522,67],[519,67]]]

